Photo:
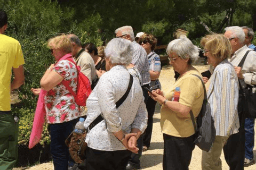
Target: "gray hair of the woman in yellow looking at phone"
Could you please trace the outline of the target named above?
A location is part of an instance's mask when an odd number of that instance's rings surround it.
[[[168,44],[166,52],[168,55],[170,55],[171,53],[176,53],[182,59],[189,58],[189,64],[195,62],[199,57],[198,47],[193,45],[193,43],[188,38],[178,38],[172,40]]]

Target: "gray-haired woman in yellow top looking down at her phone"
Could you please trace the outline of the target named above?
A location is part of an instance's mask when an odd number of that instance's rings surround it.
[[[192,110],[197,117],[204,99],[203,84],[192,75],[201,77],[191,65],[198,57],[198,48],[188,38],[179,38],[169,43],[166,52],[179,78],[165,95],[159,89],[150,93],[151,98],[162,104],[163,169],[188,169],[195,148],[195,130],[189,112]],[[175,90],[180,91],[179,99],[174,98]]]

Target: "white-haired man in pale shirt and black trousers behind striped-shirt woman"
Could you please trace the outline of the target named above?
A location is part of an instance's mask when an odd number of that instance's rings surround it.
[[[233,55],[230,59],[231,64],[234,65],[235,71],[239,83],[242,88],[248,86],[254,86],[256,84],[256,52],[248,48],[244,44],[245,34],[241,27],[227,27],[225,28],[225,37],[227,37],[231,43]],[[246,60],[242,67],[238,67],[242,58],[247,53]],[[239,132],[230,135],[226,145],[223,147],[224,155],[227,164],[230,169],[244,169],[245,159],[245,109],[243,108],[244,101],[242,100],[243,90],[239,90],[239,101],[238,101],[238,116],[239,116]]]

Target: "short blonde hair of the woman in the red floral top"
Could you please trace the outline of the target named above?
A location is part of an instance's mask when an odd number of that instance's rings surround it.
[[[68,36],[62,34],[61,36],[50,38],[47,47],[50,49],[62,49],[65,53],[71,53],[72,44]]]

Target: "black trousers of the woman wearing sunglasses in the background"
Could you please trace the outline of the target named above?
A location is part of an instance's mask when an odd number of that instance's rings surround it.
[[[149,148],[153,130],[153,115],[155,113],[156,101],[149,97],[146,106],[148,111],[148,126],[143,135],[143,146]]]

